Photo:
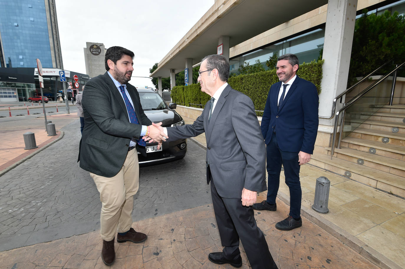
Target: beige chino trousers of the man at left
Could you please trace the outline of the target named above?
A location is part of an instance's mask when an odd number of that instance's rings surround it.
[[[124,233],[132,225],[134,197],[139,189],[139,164],[136,149],[128,152],[124,165],[118,174],[111,178],[90,173],[102,203],[100,215],[100,235],[111,241],[115,233]]]

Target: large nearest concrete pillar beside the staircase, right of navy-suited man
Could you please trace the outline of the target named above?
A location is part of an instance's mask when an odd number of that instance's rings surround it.
[[[333,99],[346,90],[352,52],[357,0],[328,0],[325,42],[322,58],[322,92],[319,115],[330,116]],[[337,106],[337,109],[341,106]],[[320,119],[322,125],[333,125],[334,119]]]

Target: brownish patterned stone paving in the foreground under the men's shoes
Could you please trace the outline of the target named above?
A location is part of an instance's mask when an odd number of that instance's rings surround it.
[[[259,199],[265,197],[261,193]],[[255,212],[279,269],[378,269],[363,256],[303,217],[303,226],[279,231],[275,222],[289,207],[277,199],[277,212]],[[181,210],[132,223],[147,233],[141,244],[115,242],[116,261],[106,266],[101,259],[98,231],[70,238],[0,252],[0,269],[230,269],[208,260],[210,252],[222,250],[212,204]],[[243,265],[249,262],[240,245]]]

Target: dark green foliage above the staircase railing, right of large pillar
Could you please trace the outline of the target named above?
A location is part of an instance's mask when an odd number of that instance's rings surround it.
[[[367,15],[367,10],[356,20],[354,27],[352,55],[349,69],[349,83],[362,77],[394,59],[396,63],[405,60],[405,19],[398,12],[382,15]]]

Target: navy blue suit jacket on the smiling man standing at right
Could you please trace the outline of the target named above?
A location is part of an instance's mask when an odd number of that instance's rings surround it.
[[[280,87],[281,81],[271,85],[267,96],[260,126],[264,142],[269,144],[276,128],[280,150],[312,154],[318,132],[318,91],[297,76],[277,111]]]

